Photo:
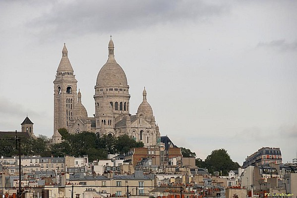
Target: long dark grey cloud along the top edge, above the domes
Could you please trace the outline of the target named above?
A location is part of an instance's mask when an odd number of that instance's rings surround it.
[[[115,33],[122,30],[150,27],[172,21],[205,20],[228,10],[224,4],[203,1],[138,0],[130,1],[60,1],[47,13],[27,23],[34,32],[50,36],[75,33]]]

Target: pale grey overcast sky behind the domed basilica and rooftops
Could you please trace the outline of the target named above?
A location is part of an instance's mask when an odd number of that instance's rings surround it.
[[[297,1],[1,0],[0,131],[53,135],[63,43],[92,116],[97,74],[115,57],[130,113],[145,86],[162,136],[205,159],[225,148],[242,165],[262,147],[297,150]]]

